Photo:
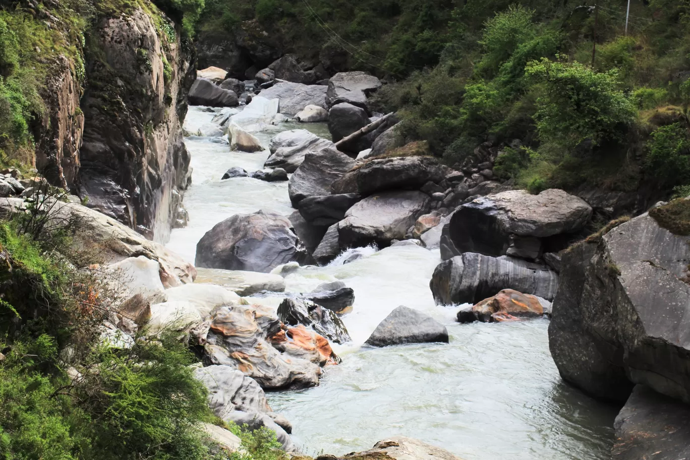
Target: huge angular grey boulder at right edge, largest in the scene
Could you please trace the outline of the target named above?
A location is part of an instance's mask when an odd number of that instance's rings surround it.
[[[603,399],[641,383],[690,402],[689,208],[612,223],[562,254],[549,348],[566,381]]]

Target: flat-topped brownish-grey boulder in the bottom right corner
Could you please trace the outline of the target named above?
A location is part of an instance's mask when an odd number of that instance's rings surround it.
[[[690,405],[635,386],[613,423],[613,460],[690,458]]]

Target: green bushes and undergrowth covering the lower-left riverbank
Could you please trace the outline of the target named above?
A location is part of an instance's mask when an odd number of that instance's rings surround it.
[[[217,419],[179,333],[103,339],[121,299],[88,268],[94,254],[70,249],[79,222],[56,225],[61,194],[45,192],[0,221],[0,458],[228,458],[201,430]],[[284,460],[273,432],[231,428],[234,460]]]

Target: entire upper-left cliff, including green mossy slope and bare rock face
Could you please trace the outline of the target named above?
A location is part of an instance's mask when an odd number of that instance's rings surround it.
[[[89,206],[165,239],[184,221],[181,123],[195,76],[178,7],[0,3],[2,163],[34,166]]]

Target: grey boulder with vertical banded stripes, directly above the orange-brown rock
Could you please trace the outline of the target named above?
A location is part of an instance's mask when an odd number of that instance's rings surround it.
[[[544,266],[513,257],[465,252],[440,263],[429,287],[437,305],[478,303],[503,289],[514,289],[551,301],[558,274]]]

